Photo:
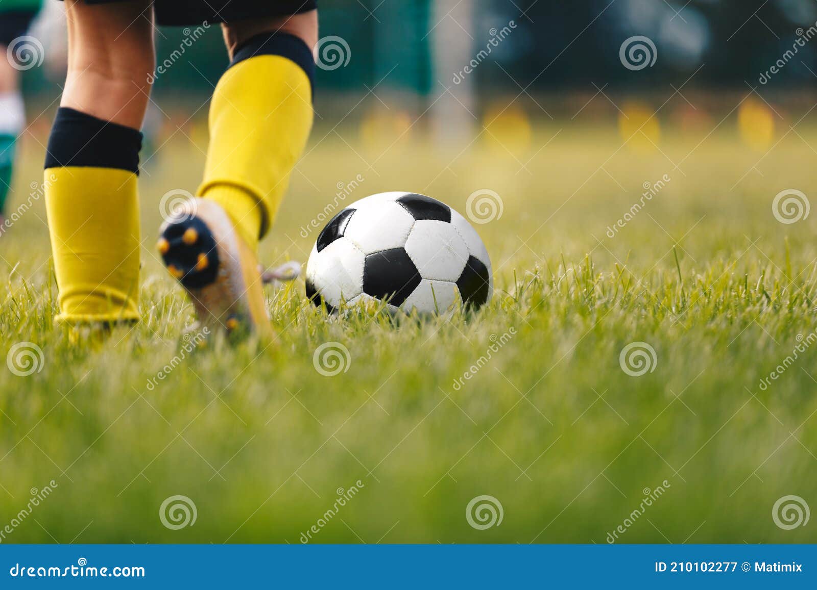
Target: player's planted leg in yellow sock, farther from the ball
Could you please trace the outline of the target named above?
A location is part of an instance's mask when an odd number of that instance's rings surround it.
[[[45,195],[60,316],[138,317],[139,131],[154,69],[150,0],[65,2],[69,64]]]

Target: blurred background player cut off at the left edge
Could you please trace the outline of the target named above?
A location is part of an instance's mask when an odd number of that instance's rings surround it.
[[[0,234],[11,189],[16,141],[25,127],[23,95],[20,93],[22,68],[16,62],[15,50],[21,48],[20,38],[28,32],[40,4],[41,0],[0,2]]]

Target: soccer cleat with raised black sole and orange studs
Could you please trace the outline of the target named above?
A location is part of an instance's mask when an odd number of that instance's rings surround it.
[[[199,197],[185,203],[159,228],[157,248],[202,326],[271,332],[256,255],[217,203]]]

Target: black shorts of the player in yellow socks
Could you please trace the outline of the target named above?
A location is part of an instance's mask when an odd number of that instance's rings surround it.
[[[123,0],[85,0],[113,4]],[[154,0],[156,23],[166,25],[230,23],[314,11],[317,0]]]

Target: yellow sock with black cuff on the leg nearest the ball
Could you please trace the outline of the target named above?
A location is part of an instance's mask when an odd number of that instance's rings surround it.
[[[224,208],[253,251],[309,137],[312,69],[305,42],[265,33],[236,52],[213,92],[199,195]]]

